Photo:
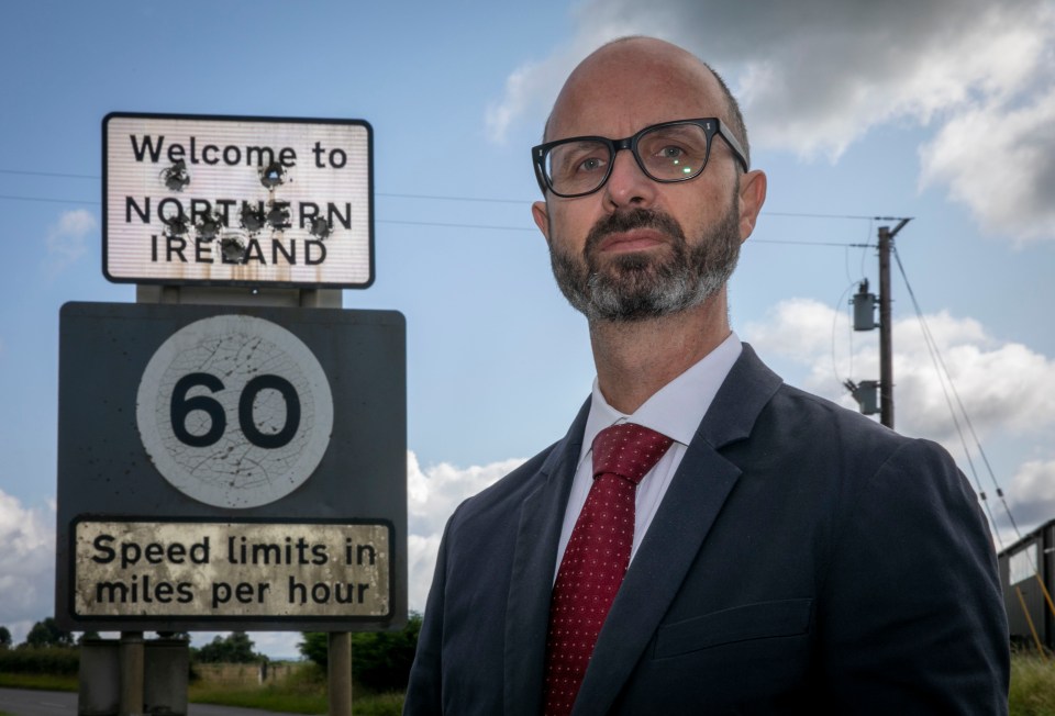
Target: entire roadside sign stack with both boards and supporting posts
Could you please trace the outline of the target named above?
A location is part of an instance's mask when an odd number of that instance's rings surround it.
[[[403,318],[327,310],[374,281],[371,132],[103,120],[103,275],[138,303],[62,310],[56,619],[122,631],[120,713],[143,630],[318,629],[351,715],[347,631],[406,620]]]

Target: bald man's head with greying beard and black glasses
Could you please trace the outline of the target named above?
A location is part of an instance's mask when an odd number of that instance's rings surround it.
[[[638,321],[688,310],[715,295],[724,300],[740,244],[765,200],[765,176],[744,172],[741,165],[747,164],[746,135],[728,88],[684,49],[629,37],[604,45],[568,77],[546,123],[546,142],[584,136],[618,141],[656,124],[703,118],[718,123],[670,127],[675,134],[691,134],[686,144],[668,143],[666,127],[640,136],[636,158],[630,150],[609,155],[604,149],[584,155],[585,160],[567,153],[574,167],[601,178],[608,171],[607,181],[580,197],[547,191],[546,201],[533,205],[557,284],[591,322]],[[742,157],[733,148],[737,144]],[[577,150],[578,144],[565,148]],[[686,156],[697,160],[682,163]],[[692,178],[674,181],[673,166]],[[692,174],[700,166],[702,172]],[[596,186],[589,183],[586,190]],[[555,188],[578,193],[574,187]]]

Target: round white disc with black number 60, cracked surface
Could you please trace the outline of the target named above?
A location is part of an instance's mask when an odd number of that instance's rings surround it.
[[[326,376],[297,336],[219,315],[170,336],[140,381],[136,423],[154,466],[218,507],[286,496],[319,466],[333,428]]]

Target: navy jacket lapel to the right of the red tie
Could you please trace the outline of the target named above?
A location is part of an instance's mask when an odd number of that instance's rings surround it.
[[[749,435],[780,382],[745,344],[626,571],[590,658],[574,716],[606,714],[619,695],[736,484],[740,468],[718,448]]]

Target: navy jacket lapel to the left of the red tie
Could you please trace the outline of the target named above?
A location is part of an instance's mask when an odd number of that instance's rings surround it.
[[[538,488],[528,495],[520,511],[506,607],[507,714],[542,713],[546,631],[557,542],[582,448],[589,406],[587,400],[568,434],[554,446],[538,471]]]

